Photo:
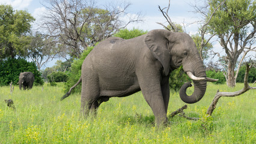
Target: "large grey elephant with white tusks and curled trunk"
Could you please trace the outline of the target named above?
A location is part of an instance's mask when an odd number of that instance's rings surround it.
[[[168,122],[169,73],[183,65],[194,80],[194,94],[188,96],[190,82],[180,89],[185,103],[196,103],[206,92],[206,68],[192,38],[184,33],[155,29],[129,40],[111,37],[97,44],[82,64],[81,113],[88,115],[110,97],[126,97],[142,91],[153,110],[156,125]],[[209,79],[212,80],[212,79]]]

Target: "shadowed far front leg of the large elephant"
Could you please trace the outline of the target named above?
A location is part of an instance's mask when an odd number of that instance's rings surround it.
[[[165,112],[167,113],[169,97],[170,97],[170,89],[169,89],[169,75],[163,77],[161,82],[161,90],[163,95],[163,101],[165,103]]]

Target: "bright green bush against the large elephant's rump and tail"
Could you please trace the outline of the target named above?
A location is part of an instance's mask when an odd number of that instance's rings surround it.
[[[67,92],[69,91],[69,89],[76,84],[76,82],[78,82],[78,80],[81,77],[81,68],[82,68],[82,64],[84,62],[84,59],[87,57],[87,55],[91,52],[91,50],[93,50],[94,47],[88,47],[87,50],[85,50],[80,59],[75,60],[72,65],[71,65],[71,70],[70,73],[68,74],[69,79],[67,80],[67,82],[64,85],[64,91]],[[81,92],[81,83],[76,86],[72,92]]]

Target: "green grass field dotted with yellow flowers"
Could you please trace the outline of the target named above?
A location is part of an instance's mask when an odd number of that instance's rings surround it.
[[[226,85],[208,83],[206,95],[184,110],[190,121],[169,118],[165,128],[154,127],[154,116],[141,92],[124,98],[111,98],[98,110],[97,118],[79,117],[80,94],[59,101],[64,92],[57,86],[34,86],[20,91],[15,86],[0,87],[0,143],[256,143],[256,92],[238,97],[222,97],[213,115],[206,111],[216,91],[238,91]],[[192,92],[192,89],[189,89]],[[15,110],[5,99],[14,101]],[[168,115],[185,103],[178,93],[171,94]]]

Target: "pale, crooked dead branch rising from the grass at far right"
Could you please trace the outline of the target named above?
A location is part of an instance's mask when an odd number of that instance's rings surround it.
[[[249,89],[256,89],[256,87],[251,87],[248,84],[248,76],[249,76],[249,70],[252,67],[252,64],[246,64],[246,71],[245,71],[245,78],[244,78],[244,87],[243,89],[241,89],[240,91],[236,91],[236,92],[219,92],[219,90],[216,92],[215,97],[213,98],[212,103],[210,104],[208,110],[207,110],[207,114],[208,115],[212,115],[213,110],[215,110],[216,105],[219,101],[219,98],[221,97],[236,97],[238,95],[241,95],[243,93],[245,93],[246,91],[248,91]]]

